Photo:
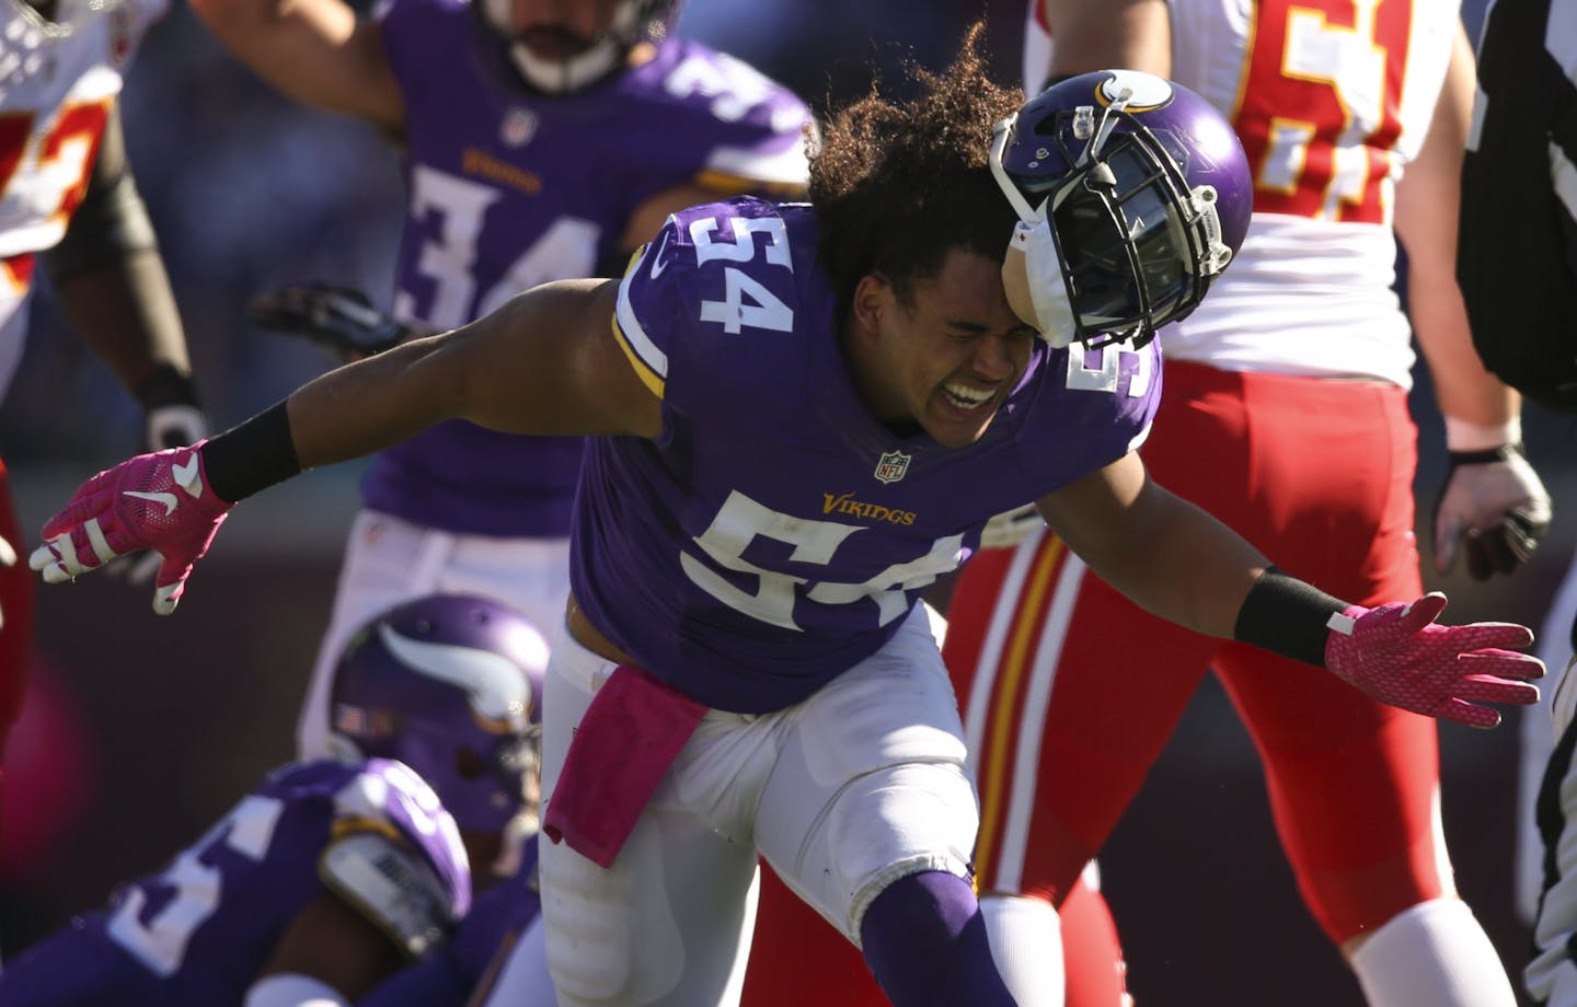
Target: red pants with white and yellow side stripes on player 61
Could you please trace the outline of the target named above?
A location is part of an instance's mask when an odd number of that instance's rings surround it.
[[[1397,388],[1169,362],[1142,457],[1288,574],[1359,604],[1422,593],[1416,429]],[[1333,941],[1451,889],[1432,720],[1150,616],[1052,534],[970,561],[946,643],[981,790],[982,892],[1063,901],[1210,668],[1258,747],[1282,845]]]

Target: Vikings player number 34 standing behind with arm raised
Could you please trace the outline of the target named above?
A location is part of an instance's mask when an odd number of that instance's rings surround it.
[[[196,0],[214,35],[281,93],[361,118],[405,154],[388,306],[397,325],[334,290],[273,299],[271,325],[372,351],[402,326],[453,329],[547,281],[618,276],[675,210],[803,194],[804,102],[678,38],[677,6],[386,0],[367,17],[344,0]],[[371,613],[470,591],[544,627],[563,618],[580,452],[576,437],[456,419],[372,460],[301,708],[301,755],[322,755],[333,656]]]

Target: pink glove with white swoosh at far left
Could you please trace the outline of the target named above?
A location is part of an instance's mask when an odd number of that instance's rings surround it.
[[[28,566],[57,585],[115,556],[151,548],[164,561],[153,578],[153,610],[170,615],[192,564],[233,504],[219,500],[202,468],[202,446],[139,454],[84,482],[66,509],[44,525]]]

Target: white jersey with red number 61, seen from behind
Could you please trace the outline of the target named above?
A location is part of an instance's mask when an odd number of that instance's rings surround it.
[[[1172,74],[1233,121],[1254,170],[1236,260],[1169,358],[1410,388],[1392,292],[1396,183],[1433,117],[1456,0],[1172,0]]]

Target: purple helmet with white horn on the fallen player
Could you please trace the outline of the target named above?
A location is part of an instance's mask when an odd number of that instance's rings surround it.
[[[462,829],[498,830],[538,764],[547,641],[508,605],[431,594],[377,616],[334,667],[330,723],[361,758],[393,758]]]

